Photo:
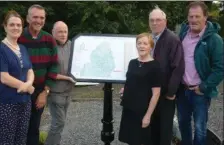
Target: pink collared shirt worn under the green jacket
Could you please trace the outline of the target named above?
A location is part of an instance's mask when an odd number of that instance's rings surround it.
[[[206,28],[206,26],[205,26]],[[201,79],[197,73],[194,63],[194,51],[197,43],[205,32],[205,28],[199,34],[192,34],[190,30],[187,32],[182,45],[184,49],[185,72],[183,75],[183,83],[186,85],[198,85]]]

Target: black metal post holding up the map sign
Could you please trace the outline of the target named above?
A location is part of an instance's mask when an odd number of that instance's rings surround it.
[[[113,130],[113,104],[112,104],[112,83],[104,84],[104,106],[103,106],[103,129],[101,131],[101,140],[105,145],[110,145],[114,140]]]

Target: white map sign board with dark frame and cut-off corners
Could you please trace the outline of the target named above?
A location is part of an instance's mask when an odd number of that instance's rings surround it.
[[[79,82],[124,82],[137,58],[134,36],[79,35],[72,42],[70,73]]]

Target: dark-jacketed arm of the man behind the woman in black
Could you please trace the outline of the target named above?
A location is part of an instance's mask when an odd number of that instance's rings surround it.
[[[177,92],[177,89],[180,85],[180,82],[184,74],[183,47],[178,39],[173,40],[172,42],[169,59],[170,59],[170,67],[173,71],[171,73],[171,77],[169,79],[169,83],[167,86],[168,91],[166,96],[173,97]]]

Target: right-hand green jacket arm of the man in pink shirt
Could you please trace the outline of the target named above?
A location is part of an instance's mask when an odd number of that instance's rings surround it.
[[[215,88],[223,80],[224,44],[222,38],[218,34],[216,34],[216,37],[212,40],[212,46],[212,52],[209,57],[212,72],[208,78],[199,85],[199,89],[202,93],[206,92],[208,88]]]

